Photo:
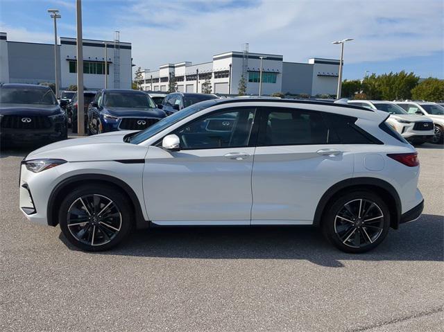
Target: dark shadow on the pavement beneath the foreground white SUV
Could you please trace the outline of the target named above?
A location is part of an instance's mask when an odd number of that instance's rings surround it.
[[[385,241],[365,254],[346,254],[327,243],[315,227],[164,227],[134,232],[125,243],[93,254],[183,259],[304,259],[341,268],[341,261],[443,261],[444,217],[391,229]],[[60,233],[60,239],[71,250]]]

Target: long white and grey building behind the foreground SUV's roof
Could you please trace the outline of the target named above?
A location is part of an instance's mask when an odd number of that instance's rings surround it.
[[[311,58],[308,63],[284,62],[282,55],[227,52],[213,56],[211,62],[164,64],[159,70],[144,70],[142,89],[168,91],[174,76],[178,91],[202,92],[210,82],[215,94],[237,94],[241,76],[246,94],[259,93],[259,69],[262,59],[262,94],[336,94],[339,60]]]

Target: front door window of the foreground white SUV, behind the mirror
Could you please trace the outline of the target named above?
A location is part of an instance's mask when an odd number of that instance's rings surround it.
[[[171,134],[179,137],[183,150],[248,146],[255,112],[255,108],[235,108],[212,113]]]

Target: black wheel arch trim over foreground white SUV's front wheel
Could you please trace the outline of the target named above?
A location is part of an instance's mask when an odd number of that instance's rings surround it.
[[[58,198],[58,195],[65,189],[66,186],[72,184],[74,182],[85,182],[85,181],[99,181],[99,182],[109,182],[114,186],[118,186],[121,190],[123,190],[130,198],[133,206],[135,207],[135,226],[137,229],[149,227],[148,220],[145,220],[144,213],[142,213],[142,206],[139,202],[139,198],[133,191],[133,189],[123,180],[118,179],[117,177],[112,177],[111,175],[104,174],[80,174],[74,175],[71,177],[67,177],[67,179],[59,182],[56,187],[54,187],[53,191],[51,191],[51,195],[49,195],[48,207],[46,211],[46,218],[48,220],[48,225],[57,226],[58,225],[58,213],[54,213],[54,204]],[[56,218],[54,218],[54,215]]]

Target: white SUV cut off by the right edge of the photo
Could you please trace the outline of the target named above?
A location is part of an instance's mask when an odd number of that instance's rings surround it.
[[[397,101],[396,105],[402,107],[409,114],[427,116],[434,123],[433,143],[442,144],[444,141],[444,107],[436,103],[419,101]]]

